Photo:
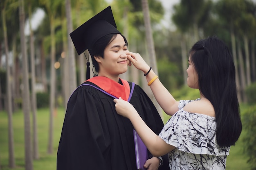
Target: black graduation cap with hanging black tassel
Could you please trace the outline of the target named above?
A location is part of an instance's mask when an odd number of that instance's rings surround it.
[[[76,28],[70,33],[70,37],[76,48],[76,52],[80,55],[87,49],[90,52],[91,47],[101,37],[108,34],[121,34],[117,30],[117,25],[110,6]],[[88,59],[87,61],[86,80],[90,78],[90,62]]]

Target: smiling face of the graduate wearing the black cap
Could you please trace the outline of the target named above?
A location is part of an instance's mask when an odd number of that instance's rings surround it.
[[[99,63],[99,76],[116,77],[126,72],[128,52],[124,38],[118,34],[105,48],[104,58],[94,57]]]

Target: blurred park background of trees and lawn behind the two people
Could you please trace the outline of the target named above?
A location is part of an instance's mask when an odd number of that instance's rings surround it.
[[[255,170],[256,0],[1,0],[0,170],[56,169],[67,101],[86,74],[85,55],[77,55],[69,34],[109,5],[128,49],[144,57],[177,100],[199,98],[186,85],[192,45],[213,35],[227,44],[243,131],[226,169]],[[121,78],[139,84],[166,123],[170,117],[143,73],[129,67]]]

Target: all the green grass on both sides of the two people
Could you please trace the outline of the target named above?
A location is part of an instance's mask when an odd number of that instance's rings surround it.
[[[241,108],[242,110],[243,108]],[[38,121],[38,149],[39,160],[33,161],[34,170],[56,170],[56,153],[58,149],[58,142],[61,135],[62,124],[65,116],[65,111],[59,108],[54,116],[54,152],[47,153],[48,144],[48,127],[49,127],[49,109],[39,109],[37,114]],[[164,123],[170,116],[163,114]],[[1,170],[13,170],[8,167],[8,116],[4,111],[0,112],[0,165]],[[32,122],[31,122],[32,124]],[[32,127],[32,125],[31,125]],[[13,133],[14,133],[14,150],[15,150],[15,170],[25,170],[25,151],[24,151],[24,119],[22,111],[17,111],[13,114]],[[32,134],[32,131],[31,131]],[[241,134],[243,137],[243,131]],[[230,149],[230,155],[227,157],[226,170],[247,170],[249,164],[247,157],[243,154],[242,140],[238,140],[236,146]]]

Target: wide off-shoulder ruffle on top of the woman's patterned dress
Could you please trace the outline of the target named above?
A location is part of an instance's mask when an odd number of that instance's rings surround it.
[[[217,144],[215,118],[184,111],[183,107],[188,102],[180,102],[180,110],[168,120],[159,137],[187,153],[229,155],[230,147],[219,147]]]

